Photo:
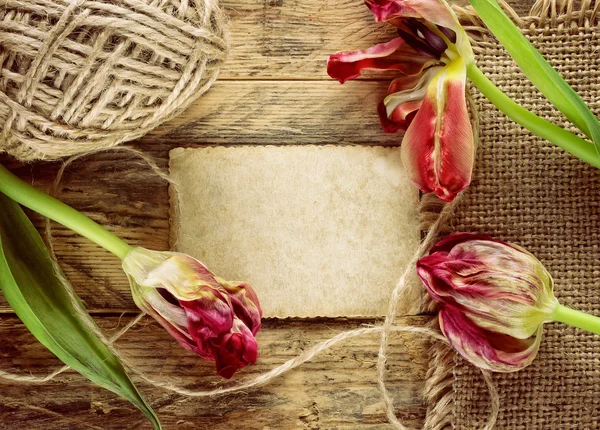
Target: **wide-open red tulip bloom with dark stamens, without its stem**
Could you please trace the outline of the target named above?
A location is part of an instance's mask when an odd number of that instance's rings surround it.
[[[468,36],[444,0],[366,0],[398,37],[363,51],[332,55],[329,75],[344,83],[365,69],[398,70],[379,105],[383,128],[406,130],[402,159],[424,192],[451,201],[471,182],[473,131],[465,99]]]

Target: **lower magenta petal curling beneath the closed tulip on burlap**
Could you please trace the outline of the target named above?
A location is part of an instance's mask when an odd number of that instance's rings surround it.
[[[440,309],[439,322],[444,336],[463,358],[494,372],[514,372],[528,366],[542,340],[542,326],[534,336],[517,339],[478,327],[452,306]]]

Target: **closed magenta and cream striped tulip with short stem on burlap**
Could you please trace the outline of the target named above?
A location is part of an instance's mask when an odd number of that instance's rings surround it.
[[[528,366],[547,322],[600,334],[600,318],[559,304],[548,271],[517,245],[456,233],[418,261],[417,274],[438,304],[450,345],[482,369],[513,372]]]

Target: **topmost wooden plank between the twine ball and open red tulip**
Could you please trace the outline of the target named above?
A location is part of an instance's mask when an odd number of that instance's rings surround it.
[[[533,1],[509,3],[525,16]],[[221,4],[231,19],[231,51],[221,79],[329,80],[329,55],[365,49],[396,35],[391,25],[376,23],[360,0],[225,0]]]

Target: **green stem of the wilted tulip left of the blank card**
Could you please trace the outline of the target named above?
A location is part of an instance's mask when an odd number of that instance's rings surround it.
[[[121,260],[132,249],[130,245],[81,212],[22,181],[2,165],[0,165],[0,192],[23,206],[87,237]]]

